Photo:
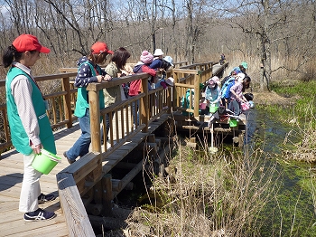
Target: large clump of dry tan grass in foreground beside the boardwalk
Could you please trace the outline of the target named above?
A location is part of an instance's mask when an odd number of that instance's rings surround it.
[[[256,236],[275,184],[261,150],[213,156],[178,145],[170,173],[153,180],[157,203],[135,210],[125,236]]]

